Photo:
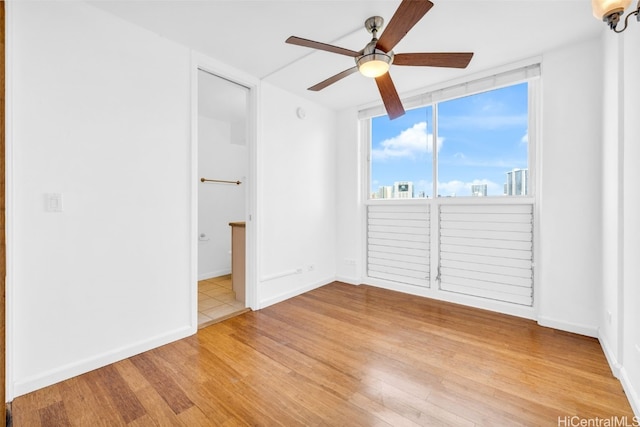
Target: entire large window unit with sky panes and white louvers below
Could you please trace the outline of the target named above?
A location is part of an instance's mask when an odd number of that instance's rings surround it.
[[[405,99],[393,121],[382,108],[360,112],[367,281],[533,307],[539,75],[535,64]]]

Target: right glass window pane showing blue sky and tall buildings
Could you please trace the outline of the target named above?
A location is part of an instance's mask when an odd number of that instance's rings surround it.
[[[527,194],[528,104],[527,83],[437,104],[439,196]]]

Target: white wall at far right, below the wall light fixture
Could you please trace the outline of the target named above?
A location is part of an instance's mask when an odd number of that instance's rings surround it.
[[[603,277],[599,339],[640,414],[640,28],[602,32],[603,50]],[[609,315],[610,314],[610,315]]]

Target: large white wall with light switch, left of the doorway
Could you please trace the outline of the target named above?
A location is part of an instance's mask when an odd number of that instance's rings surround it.
[[[196,325],[189,51],[81,2],[8,6],[11,399]]]

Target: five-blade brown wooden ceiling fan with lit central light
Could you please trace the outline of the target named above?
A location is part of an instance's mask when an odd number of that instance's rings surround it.
[[[312,49],[324,50],[340,55],[351,56],[356,66],[344,70],[335,76],[311,86],[308,90],[319,91],[341,80],[356,71],[367,77],[375,78],[382,102],[390,119],[404,114],[404,107],[398,96],[393,80],[389,75],[389,66],[412,65],[426,67],[466,68],[473,57],[472,52],[442,53],[398,53],[393,48],[402,40],[411,28],[433,7],[429,0],[402,0],[400,6],[391,17],[389,25],[378,39],[378,31],[384,20],[380,16],[367,19],[364,27],[373,36],[364,49],[356,52],[342,47],[291,36],[286,43]]]

